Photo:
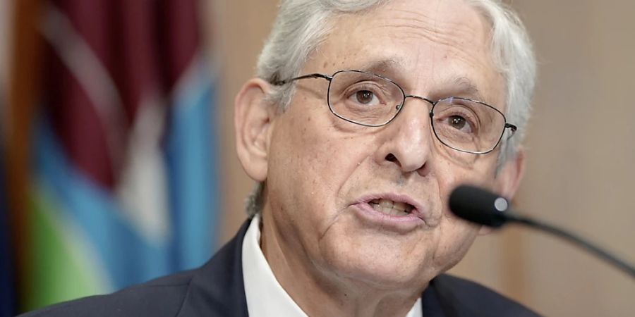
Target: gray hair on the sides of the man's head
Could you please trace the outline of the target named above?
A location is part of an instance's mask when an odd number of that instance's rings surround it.
[[[278,82],[300,75],[308,56],[317,49],[330,31],[331,21],[346,13],[361,13],[390,0],[282,0],[265,46],[258,58],[256,76]],[[536,81],[536,60],[531,41],[516,13],[500,0],[465,0],[488,20],[491,30],[492,62],[504,77],[505,113],[509,123],[518,127],[516,135],[500,144],[499,167],[513,158],[524,139]],[[294,85],[272,87],[267,101],[284,111],[291,102]],[[262,209],[265,190],[258,183],[247,200],[247,213],[254,216]]]

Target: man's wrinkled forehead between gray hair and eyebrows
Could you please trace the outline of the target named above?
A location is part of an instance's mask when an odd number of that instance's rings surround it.
[[[434,97],[436,90],[464,87],[470,97],[502,101],[490,24],[464,0],[395,0],[330,22],[331,32],[306,63],[309,71],[368,70],[411,94]]]

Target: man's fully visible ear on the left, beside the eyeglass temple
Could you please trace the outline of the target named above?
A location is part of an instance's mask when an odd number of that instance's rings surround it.
[[[257,182],[267,179],[267,159],[274,106],[265,97],[269,83],[253,78],[243,85],[234,101],[236,152],[243,169]]]

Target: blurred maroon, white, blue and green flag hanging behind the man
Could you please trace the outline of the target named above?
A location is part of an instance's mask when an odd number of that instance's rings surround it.
[[[211,256],[215,94],[200,4],[43,1],[42,85],[25,132],[25,309]]]

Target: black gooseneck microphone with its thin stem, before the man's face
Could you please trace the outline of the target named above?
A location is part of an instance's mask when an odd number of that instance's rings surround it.
[[[456,216],[468,220],[478,225],[486,225],[492,228],[500,228],[506,223],[519,223],[531,228],[543,230],[549,232],[552,235],[561,237],[574,244],[576,247],[580,247],[591,254],[598,256],[598,258],[607,261],[616,268],[624,271],[631,278],[635,278],[635,268],[630,266],[626,261],[623,261],[617,256],[614,256],[608,251],[595,246],[591,242],[583,240],[583,238],[574,235],[571,232],[557,228],[554,225],[544,223],[540,220],[521,216],[518,213],[512,211],[509,208],[509,201],[501,197],[500,195],[488,192],[485,189],[478,187],[461,185],[456,187],[449,197],[449,208]]]

